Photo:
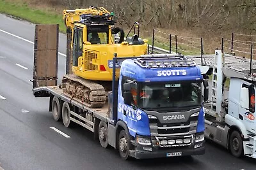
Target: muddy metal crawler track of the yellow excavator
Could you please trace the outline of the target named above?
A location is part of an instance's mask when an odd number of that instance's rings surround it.
[[[84,80],[74,74],[63,76],[62,83],[65,83],[68,96],[71,95],[71,98],[80,99],[85,106],[102,108],[106,103],[106,90],[99,83]]]

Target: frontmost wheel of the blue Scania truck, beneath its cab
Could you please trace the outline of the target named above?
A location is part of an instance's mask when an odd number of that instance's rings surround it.
[[[130,139],[124,130],[120,131],[118,136],[118,150],[122,159],[127,160],[129,158]]]

